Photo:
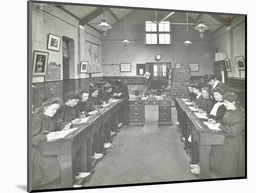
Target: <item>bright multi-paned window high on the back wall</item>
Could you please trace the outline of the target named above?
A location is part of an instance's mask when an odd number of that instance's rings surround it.
[[[159,24],[146,21],[145,25],[146,45],[171,45],[169,21],[162,21]]]

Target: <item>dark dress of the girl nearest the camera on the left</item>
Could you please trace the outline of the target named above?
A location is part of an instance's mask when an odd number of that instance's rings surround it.
[[[42,156],[37,143],[47,140],[46,131],[59,131],[67,122],[40,113],[32,118],[32,163],[33,187],[47,184],[61,176],[61,166],[57,156]]]

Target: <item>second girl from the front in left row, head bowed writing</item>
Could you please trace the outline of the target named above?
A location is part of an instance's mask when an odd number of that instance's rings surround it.
[[[71,124],[75,124],[81,121],[83,117],[80,110],[76,106],[77,102],[80,100],[80,96],[74,92],[68,92],[67,101],[65,104],[62,104],[56,116],[62,119],[65,122],[70,122]]]

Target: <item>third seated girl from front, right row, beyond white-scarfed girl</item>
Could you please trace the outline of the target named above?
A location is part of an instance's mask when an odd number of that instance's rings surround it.
[[[210,98],[210,89],[208,87],[202,88],[202,97],[203,97],[203,100],[202,100],[201,105],[198,106],[198,108],[199,108],[198,112],[199,113],[202,113],[202,112],[210,113],[212,110],[212,107],[213,107],[213,103]]]

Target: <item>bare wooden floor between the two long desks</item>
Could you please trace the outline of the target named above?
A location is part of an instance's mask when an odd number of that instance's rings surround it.
[[[145,106],[145,111],[144,127],[122,127],[114,137],[114,148],[107,150],[84,186],[198,179],[189,171],[189,156],[176,126],[157,125],[157,106]],[[172,121],[176,120],[172,108]]]

